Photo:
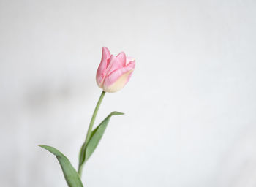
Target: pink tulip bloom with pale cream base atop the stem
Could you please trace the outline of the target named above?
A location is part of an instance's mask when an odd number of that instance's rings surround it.
[[[107,47],[102,47],[102,61],[99,64],[96,81],[105,92],[116,92],[124,88],[135,69],[135,59],[124,52],[113,56]]]

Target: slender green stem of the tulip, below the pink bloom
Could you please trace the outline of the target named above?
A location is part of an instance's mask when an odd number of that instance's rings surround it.
[[[87,143],[88,143],[88,141],[89,141],[89,139],[91,137],[92,127],[94,126],[94,121],[95,121],[97,112],[99,110],[99,106],[102,103],[102,99],[103,99],[104,96],[105,96],[105,91],[102,91],[102,94],[99,96],[99,101],[97,102],[97,105],[96,105],[96,107],[94,109],[94,114],[91,117],[91,122],[90,122],[90,125],[89,125],[89,128],[88,128],[87,134],[86,134],[86,140],[84,142],[85,146],[87,145]],[[80,175],[80,177],[82,175],[82,171],[83,171],[83,166],[79,166],[78,167],[78,174]]]

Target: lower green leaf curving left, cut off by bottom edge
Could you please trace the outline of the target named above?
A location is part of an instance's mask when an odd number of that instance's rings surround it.
[[[50,151],[50,153],[53,153],[53,155],[57,157],[69,187],[83,187],[83,183],[79,178],[78,172],[75,171],[69,159],[67,159],[67,157],[64,156],[64,154],[59,152],[59,150],[57,150],[56,148],[50,147],[48,145],[39,145],[39,146],[41,148],[45,148],[46,150]]]

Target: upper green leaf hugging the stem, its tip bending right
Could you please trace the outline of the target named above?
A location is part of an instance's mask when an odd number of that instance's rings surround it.
[[[97,148],[97,145],[99,144],[99,140],[101,140],[105,129],[108,126],[108,122],[110,121],[110,118],[112,115],[124,115],[124,113],[121,112],[111,112],[107,118],[105,118],[102,123],[97,126],[92,132],[91,137],[86,145],[82,145],[81,153],[80,153],[80,166],[83,165],[91,156],[92,153],[94,153],[94,150]]]

